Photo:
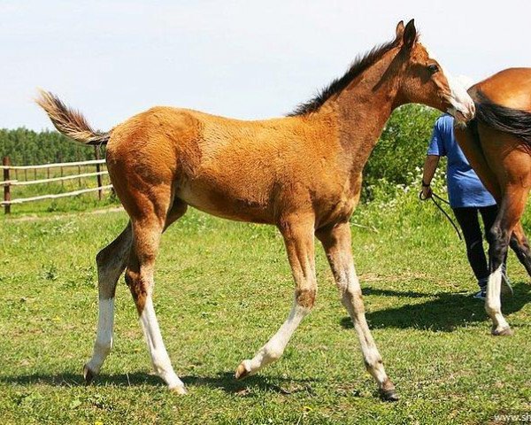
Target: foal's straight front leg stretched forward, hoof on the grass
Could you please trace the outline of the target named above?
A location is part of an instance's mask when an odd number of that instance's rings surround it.
[[[378,383],[381,397],[389,401],[396,401],[398,398],[395,385],[389,380],[385,372],[380,352],[367,325],[365,305],[352,259],[349,223],[338,223],[329,228],[319,229],[316,236],[327,253],[342,305],[345,306],[354,322],[367,371],[373,375]]]

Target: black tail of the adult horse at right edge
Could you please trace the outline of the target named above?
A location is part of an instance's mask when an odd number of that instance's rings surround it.
[[[490,128],[516,135],[531,145],[531,112],[494,104],[478,90],[475,118]]]

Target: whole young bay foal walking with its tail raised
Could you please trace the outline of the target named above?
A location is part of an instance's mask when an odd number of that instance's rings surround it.
[[[351,252],[349,218],[358,204],[361,173],[390,113],[427,104],[458,120],[473,118],[466,89],[430,58],[413,20],[396,26],[391,42],[358,58],[347,73],[287,117],[243,121],[204,112],[154,107],[109,132],[89,127],[81,113],[42,92],[37,103],[58,131],[81,143],[106,144],[112,185],[129,223],[96,256],[99,316],[87,383],[112,347],[114,294],[125,270],[154,370],[185,393],[165,350],[153,309],[153,268],[162,233],[188,205],[229,220],[279,228],[295,280],[293,305],[278,332],[236,368],[256,374],[281,357],[317,293],[314,236],[327,254],[358,333],[368,372],[381,397],[396,400],[365,316]]]

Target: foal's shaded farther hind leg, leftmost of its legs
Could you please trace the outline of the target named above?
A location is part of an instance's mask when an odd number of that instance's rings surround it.
[[[100,371],[112,348],[112,328],[114,324],[114,292],[120,274],[126,268],[131,248],[131,224],[96,255],[98,281],[98,321],[96,343],[92,359],[83,368],[85,382],[90,383]]]

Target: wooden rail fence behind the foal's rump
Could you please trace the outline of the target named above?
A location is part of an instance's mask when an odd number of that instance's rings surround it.
[[[102,175],[108,174],[106,170],[102,170],[102,165],[105,164],[104,159],[99,159],[96,153],[96,159],[89,161],[79,161],[79,162],[62,162],[58,164],[41,164],[35,166],[12,166],[9,157],[4,157],[2,161],[2,170],[4,174],[4,181],[0,182],[0,186],[4,186],[4,201],[0,205],[4,206],[4,213],[11,213],[11,205],[22,204],[25,202],[35,202],[41,201],[44,199],[55,199],[58,197],[73,197],[75,195],[80,195],[81,193],[87,192],[98,192],[98,198],[101,200],[103,196],[103,191],[105,189],[112,189],[112,184],[103,185],[102,184]],[[78,174],[69,174],[63,175],[65,168],[72,168],[76,166],[78,169]],[[95,172],[93,173],[81,173],[81,166],[95,166]],[[61,176],[60,177],[50,177],[50,169],[60,168]],[[37,179],[37,170],[47,170],[47,177],[45,179]],[[27,170],[34,170],[35,180],[27,180]],[[19,181],[17,180],[17,175],[19,172],[23,171],[26,177],[26,180]],[[13,178],[14,177],[14,178]],[[27,186],[31,184],[45,184],[51,182],[65,182],[67,180],[81,179],[87,177],[96,177],[97,187],[96,188],[87,188],[73,190],[70,192],[58,193],[58,194],[48,194],[40,195],[38,197],[20,197],[12,199],[12,188],[16,186]]]

